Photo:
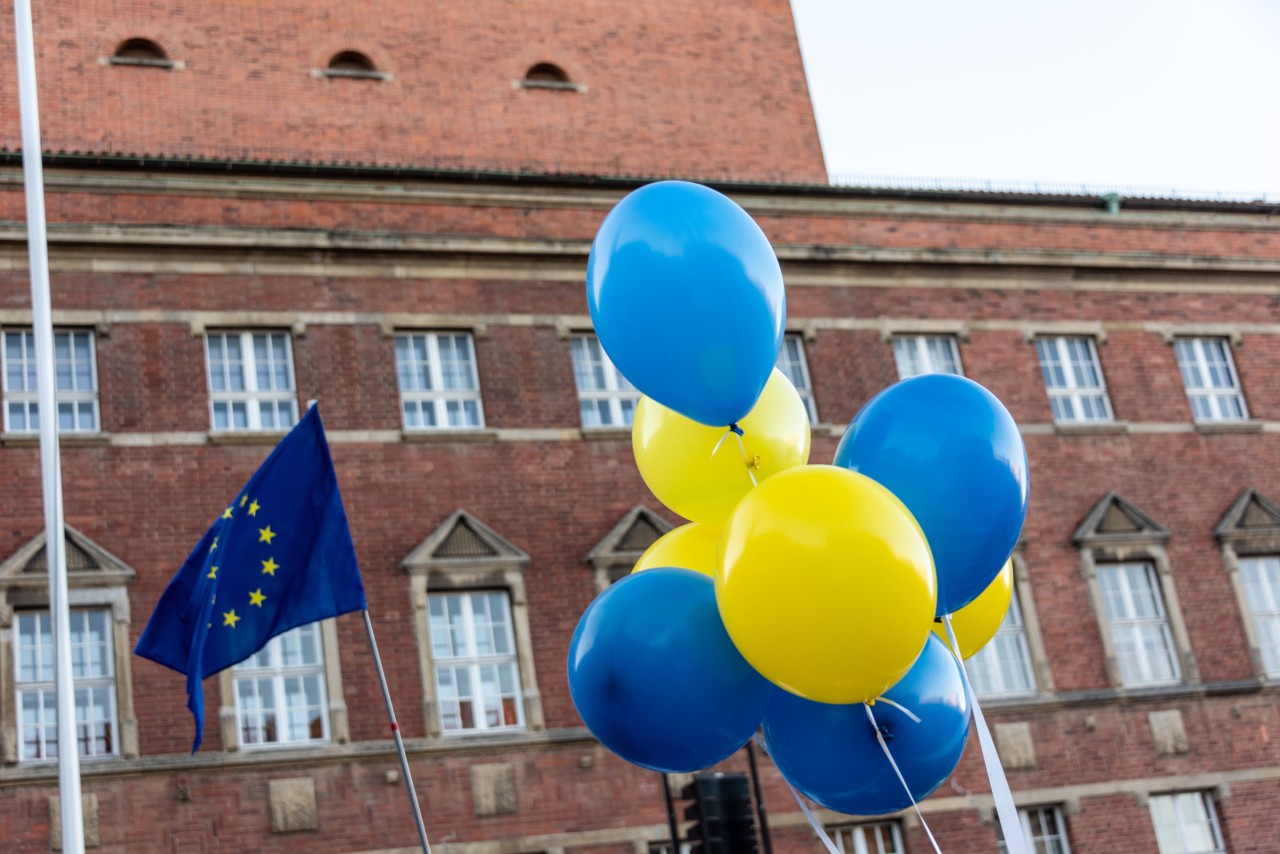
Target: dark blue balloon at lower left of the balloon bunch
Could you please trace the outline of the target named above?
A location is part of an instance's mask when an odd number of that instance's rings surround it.
[[[568,688],[600,744],[668,773],[732,755],[776,691],[724,631],[712,579],[678,568],[628,575],[588,606]]]

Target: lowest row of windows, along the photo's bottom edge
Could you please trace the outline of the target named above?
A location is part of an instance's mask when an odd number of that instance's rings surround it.
[[[1207,791],[1179,791],[1148,798],[1158,854],[1225,854],[1222,827],[1213,798]],[[1024,836],[1036,854],[1071,854],[1064,810],[1057,804],[1018,810]],[[861,822],[827,827],[841,854],[905,854],[902,828],[896,821]],[[996,826],[997,846],[1007,851],[1004,834]],[[650,845],[649,854],[668,854],[671,845]],[[690,854],[691,845],[681,845]]]

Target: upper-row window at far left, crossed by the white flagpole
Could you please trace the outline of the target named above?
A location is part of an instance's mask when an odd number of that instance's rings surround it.
[[[4,333],[4,429],[40,431],[36,387],[36,335],[29,329]],[[97,366],[93,333],[54,332],[54,399],[60,433],[97,433]]]

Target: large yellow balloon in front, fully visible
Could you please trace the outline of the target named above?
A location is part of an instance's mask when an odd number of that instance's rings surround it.
[[[800,466],[730,516],[716,602],[765,679],[819,703],[861,703],[920,654],[937,577],[924,533],[893,493],[847,469]]]

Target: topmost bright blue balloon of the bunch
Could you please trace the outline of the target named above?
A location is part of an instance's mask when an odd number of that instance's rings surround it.
[[[613,365],[644,394],[724,426],[746,415],[782,344],[773,247],[721,193],[681,181],[636,189],[604,218],[586,302]]]

